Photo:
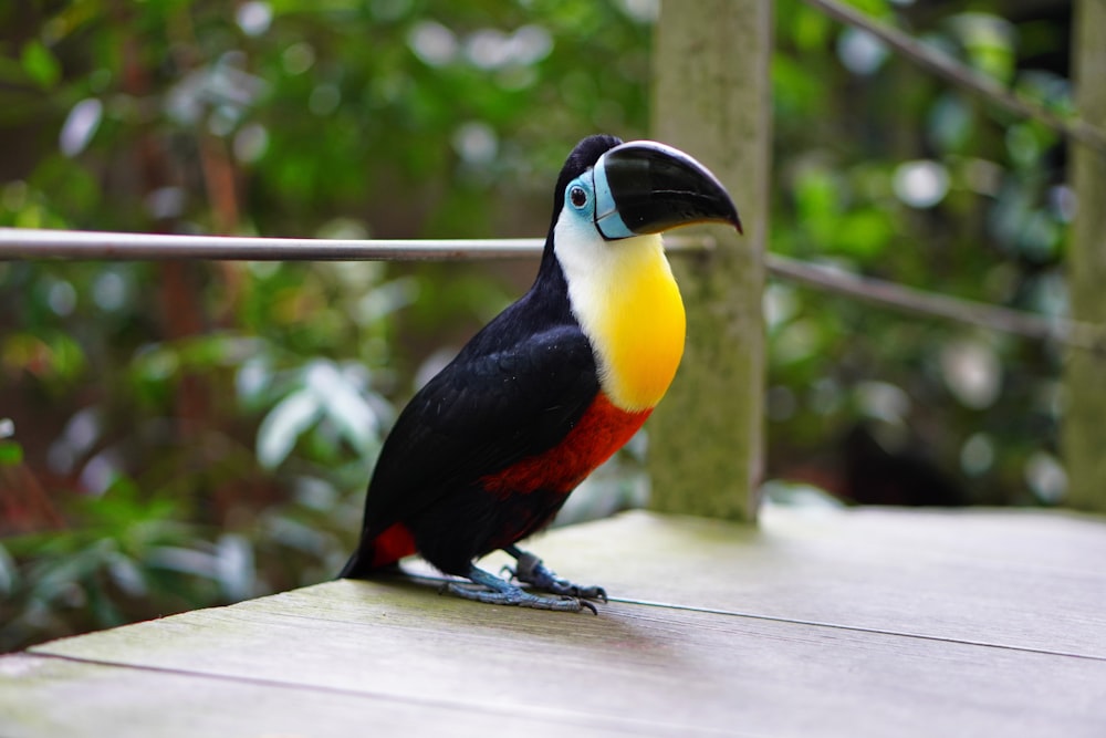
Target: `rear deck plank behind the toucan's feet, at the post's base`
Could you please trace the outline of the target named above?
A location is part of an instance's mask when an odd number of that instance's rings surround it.
[[[771,507],[762,518],[758,531],[635,512],[532,548],[628,600],[1106,657],[1100,518]]]

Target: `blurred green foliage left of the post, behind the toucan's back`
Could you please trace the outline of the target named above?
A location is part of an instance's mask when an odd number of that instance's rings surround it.
[[[542,235],[566,141],[645,133],[651,29],[633,8],[0,7],[0,226]],[[511,282],[0,264],[0,647],[333,576],[444,320],[456,345]]]

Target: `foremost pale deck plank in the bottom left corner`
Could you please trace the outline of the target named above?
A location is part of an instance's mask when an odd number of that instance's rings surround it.
[[[432,695],[393,699],[365,692],[306,689],[260,679],[17,655],[0,657],[4,738],[348,738],[349,736],[606,736],[626,724],[567,710],[525,714]],[[664,735],[649,730],[641,735]]]

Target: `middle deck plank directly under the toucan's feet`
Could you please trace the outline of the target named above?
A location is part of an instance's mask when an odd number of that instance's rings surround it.
[[[1106,720],[1103,661],[620,603],[481,609],[407,583],[324,584],[35,652],[532,716],[539,735],[570,716],[672,736],[1098,736]],[[4,687],[0,706],[22,701]]]

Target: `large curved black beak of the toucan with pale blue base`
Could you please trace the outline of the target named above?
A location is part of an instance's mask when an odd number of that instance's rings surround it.
[[[595,226],[607,240],[659,233],[698,222],[730,224],[738,209],[718,178],[684,152],[632,141],[599,157],[593,170]]]

